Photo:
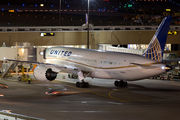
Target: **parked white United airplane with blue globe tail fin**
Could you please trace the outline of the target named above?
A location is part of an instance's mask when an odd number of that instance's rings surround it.
[[[162,74],[171,69],[161,63],[172,16],[165,17],[151,39],[143,55],[130,53],[108,52],[92,49],[52,47],[44,51],[45,63],[39,64],[33,72],[34,77],[41,81],[53,81],[57,74],[66,69],[78,75],[76,87],[89,87],[86,77],[116,79],[114,85],[126,87],[127,81],[135,81]]]

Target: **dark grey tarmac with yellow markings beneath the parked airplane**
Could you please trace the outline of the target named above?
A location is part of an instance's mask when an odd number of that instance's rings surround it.
[[[13,76],[0,83],[0,110],[44,120],[179,120],[180,80],[144,79],[115,87],[115,80],[91,79],[90,88],[76,88],[78,79],[61,73],[53,82],[20,82]],[[60,94],[46,95],[49,88]],[[2,114],[0,114],[2,115]],[[0,116],[3,119],[7,116]],[[12,120],[15,119],[12,117]],[[30,119],[30,118],[29,118]],[[10,120],[10,118],[9,118]]]

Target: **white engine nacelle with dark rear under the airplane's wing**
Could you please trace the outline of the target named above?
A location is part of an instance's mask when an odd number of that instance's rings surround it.
[[[48,68],[45,65],[39,65],[35,67],[33,74],[37,80],[41,81],[53,81],[57,77],[57,73],[52,71],[51,68]]]

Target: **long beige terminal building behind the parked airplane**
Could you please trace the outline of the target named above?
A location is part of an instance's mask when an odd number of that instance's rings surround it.
[[[119,47],[124,47],[134,49],[134,52],[140,50],[137,54],[141,54],[147,48],[157,27],[158,26],[94,26],[90,28],[89,32],[90,49],[123,52]],[[179,29],[180,26],[170,26],[165,53],[176,53],[180,56],[180,52],[178,51],[180,49]],[[86,48],[87,28],[83,26],[0,27],[0,38],[0,44],[6,47],[16,48],[16,46],[18,46],[18,49],[23,51],[34,49],[36,52],[33,52],[35,55],[33,59],[32,55],[29,54],[31,60],[43,62],[42,59],[37,58],[39,58],[39,55],[42,55],[41,53],[47,47],[63,46]],[[17,54],[22,56],[22,52]],[[4,57],[6,56],[2,56],[1,58]],[[19,57],[18,59],[30,60],[30,57]],[[14,59],[17,59],[16,55],[14,55]]]

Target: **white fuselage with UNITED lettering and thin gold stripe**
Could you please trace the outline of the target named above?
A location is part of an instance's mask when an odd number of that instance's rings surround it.
[[[93,78],[130,81],[165,72],[164,64],[128,53],[54,47],[46,49],[45,56],[47,63],[67,65],[78,68],[78,70],[91,72]],[[141,64],[146,67],[143,68],[131,63]],[[148,68],[148,66],[151,67]]]

